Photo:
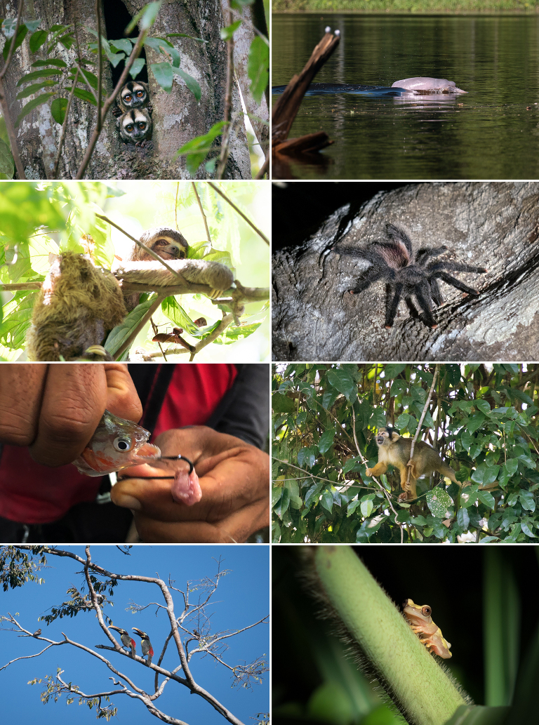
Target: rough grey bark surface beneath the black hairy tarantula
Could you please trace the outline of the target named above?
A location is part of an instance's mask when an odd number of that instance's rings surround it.
[[[303,247],[274,254],[274,360],[539,359],[538,182],[410,184],[353,206]],[[410,233],[414,250],[445,244],[450,259],[484,265],[482,275],[455,273],[480,296],[441,283],[437,328],[411,318],[401,301],[386,330],[384,282],[348,294],[369,264],[331,247],[384,239],[388,222]]]

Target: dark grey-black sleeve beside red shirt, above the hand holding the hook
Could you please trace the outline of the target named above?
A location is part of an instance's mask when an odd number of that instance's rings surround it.
[[[234,384],[206,425],[264,448],[269,434],[269,364],[245,363],[236,368]]]

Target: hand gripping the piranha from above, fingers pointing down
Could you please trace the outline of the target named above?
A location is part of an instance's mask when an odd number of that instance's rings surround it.
[[[142,407],[127,365],[1,365],[0,442],[28,446],[37,463],[58,466],[75,460],[105,408],[139,421]]]

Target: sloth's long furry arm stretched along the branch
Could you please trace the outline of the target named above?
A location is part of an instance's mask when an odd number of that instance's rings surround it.
[[[145,284],[149,287],[173,287],[182,283],[189,292],[189,284],[206,284],[211,288],[210,297],[229,289],[234,274],[220,262],[205,260],[167,260],[167,264],[178,274],[169,272],[160,262],[119,262],[112,268],[118,280],[126,283]]]

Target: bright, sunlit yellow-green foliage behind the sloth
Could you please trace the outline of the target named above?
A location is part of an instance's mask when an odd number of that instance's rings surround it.
[[[120,227],[130,231],[137,239],[144,228],[179,226],[189,241],[190,257],[221,262],[236,270],[240,279],[244,277],[245,284],[255,286],[267,283],[266,244],[212,188],[205,183],[197,183],[196,186],[207,218],[211,239],[208,242],[193,183],[131,184],[3,183],[0,195],[0,284],[31,286],[32,283],[43,281],[49,272],[50,255],[60,252],[89,254],[96,266],[106,269],[110,269],[115,255],[126,260],[124,249],[130,249],[132,242],[116,230],[111,233],[111,226],[100,219],[98,214],[112,216]],[[260,195],[266,194],[264,188],[258,188],[255,182],[229,184],[223,191],[250,218],[255,218],[256,210],[260,208]],[[151,204],[148,204],[149,192],[152,194]],[[121,252],[118,248],[120,243],[127,243]],[[245,246],[247,249],[258,249],[258,244],[264,248],[263,252],[253,255],[253,260],[244,259],[242,264]],[[15,249],[17,261],[12,264],[10,262],[15,259]],[[25,336],[30,327],[37,294],[36,289],[8,293],[0,291],[2,359],[17,360],[24,352]],[[151,299],[149,294],[142,294],[139,306],[123,323],[110,331],[108,339],[115,341],[116,349],[136,325],[141,311],[148,307],[148,299]],[[210,347],[218,346],[218,356],[221,359],[226,357],[222,346],[247,339],[254,333],[266,317],[266,307],[265,302],[247,303],[240,325],[227,327]],[[213,333],[225,310],[226,305],[215,305],[202,294],[182,295],[165,298],[152,319],[159,333],[181,328],[189,339],[198,343]],[[205,320],[201,327],[195,324],[200,318]],[[149,352],[158,352],[157,342],[152,342],[154,336],[155,330],[148,323],[133,344],[135,347],[143,346]],[[266,354],[269,344],[268,340],[261,342],[262,348],[258,352],[250,352],[256,360]],[[205,349],[207,355],[210,357],[205,359],[211,359],[209,348]]]

